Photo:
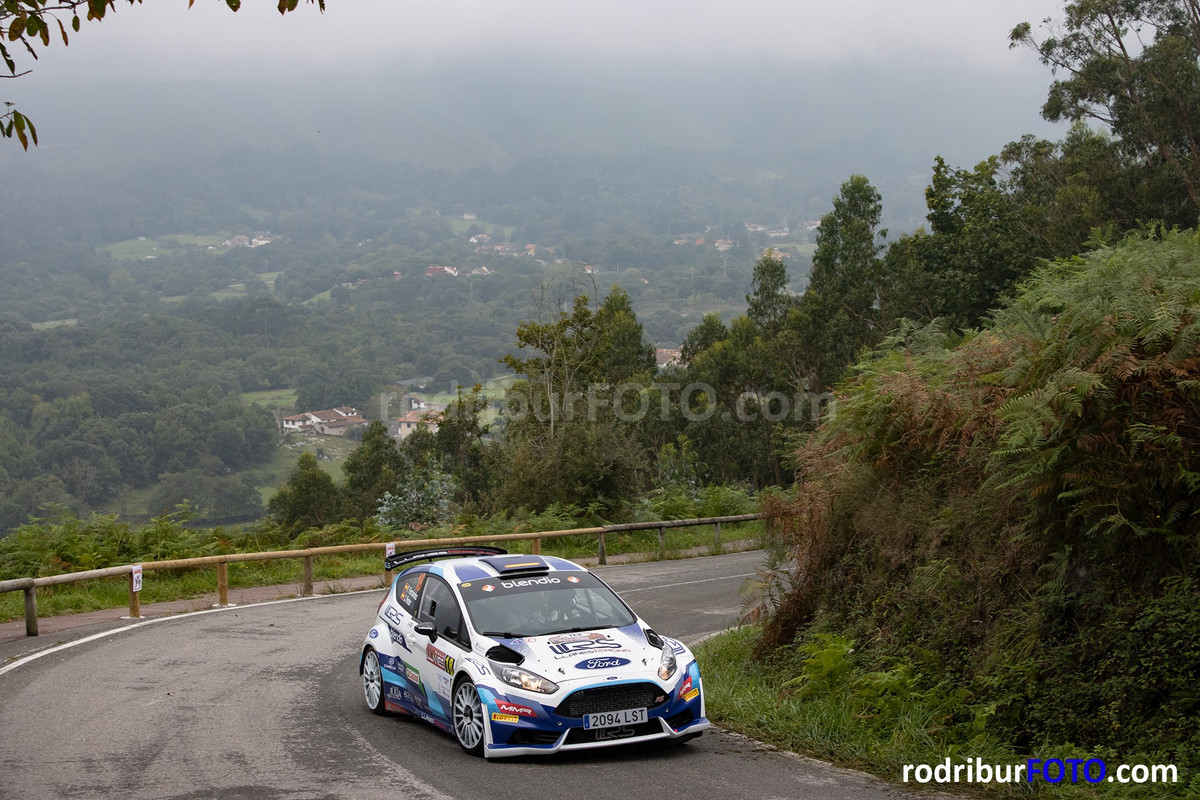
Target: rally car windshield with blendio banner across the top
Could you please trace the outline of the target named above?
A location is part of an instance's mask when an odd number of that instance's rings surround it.
[[[623,627],[637,618],[590,572],[458,584],[472,626],[484,636],[517,638]]]

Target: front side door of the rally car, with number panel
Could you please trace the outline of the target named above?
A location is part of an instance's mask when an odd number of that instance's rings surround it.
[[[445,581],[433,575],[425,581],[415,619],[422,630],[430,626],[436,631],[436,636],[420,638],[424,648],[421,682],[430,709],[450,722],[455,667],[470,652],[470,639],[462,608]]]

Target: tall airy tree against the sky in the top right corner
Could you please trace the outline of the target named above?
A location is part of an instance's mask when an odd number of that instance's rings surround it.
[[[1200,207],[1200,0],[1075,0],[1045,38],[1030,23],[1009,35],[1037,50],[1056,79],[1042,115],[1093,119],[1130,152],[1166,166]]]

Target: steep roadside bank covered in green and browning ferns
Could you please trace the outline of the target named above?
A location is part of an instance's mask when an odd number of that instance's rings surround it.
[[[792,565],[760,651],[839,632],[1020,752],[1195,765],[1198,263],[1152,228],[1038,267],[977,335],[910,326],[856,365],[764,504]]]

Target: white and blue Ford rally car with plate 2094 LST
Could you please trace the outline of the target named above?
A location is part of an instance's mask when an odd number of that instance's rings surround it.
[[[685,740],[709,727],[691,651],[577,564],[445,547],[386,566],[406,569],[359,658],[376,714],[420,717],[487,758]]]

